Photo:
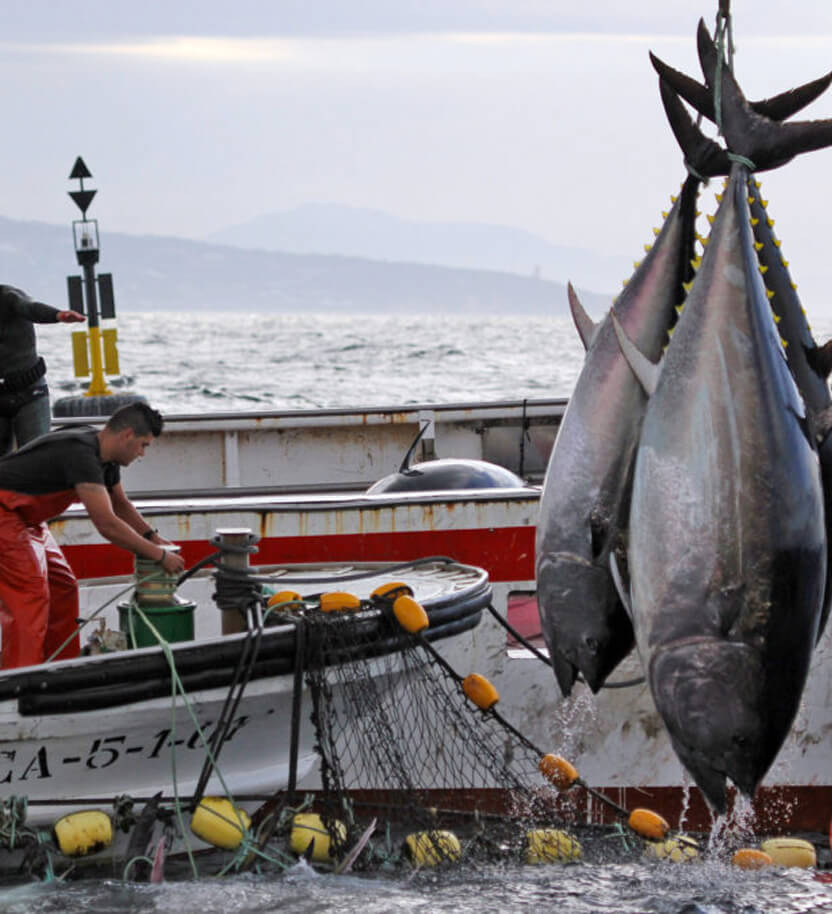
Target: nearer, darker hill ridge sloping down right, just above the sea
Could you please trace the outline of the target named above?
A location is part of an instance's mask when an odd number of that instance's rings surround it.
[[[439,311],[565,314],[562,283],[507,272],[242,250],[181,238],[101,232],[100,272],[117,311]],[[65,306],[79,268],[68,226],[0,217],[0,282]],[[582,292],[603,314],[609,297]]]

